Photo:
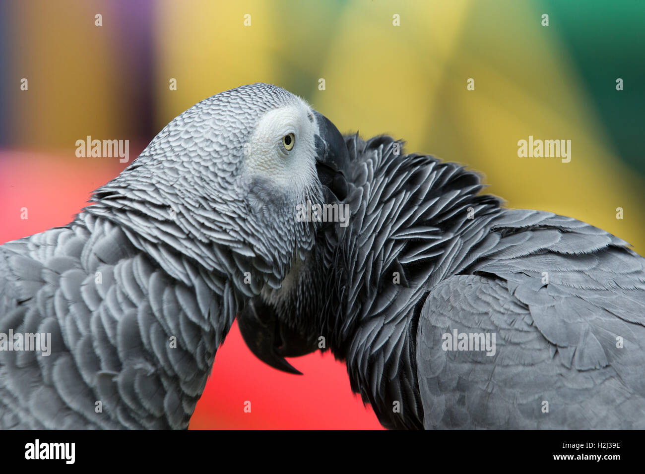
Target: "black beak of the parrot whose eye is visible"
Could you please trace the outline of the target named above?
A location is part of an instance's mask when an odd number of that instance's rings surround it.
[[[350,153],[336,126],[319,112],[314,111],[313,115],[318,125],[316,169],[323,184],[325,201],[342,201],[348,193]]]

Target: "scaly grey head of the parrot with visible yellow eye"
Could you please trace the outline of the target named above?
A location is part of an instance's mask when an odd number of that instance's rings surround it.
[[[87,210],[226,275],[251,297],[280,288],[312,248],[320,224],[299,221],[297,206],[336,199],[347,153],[341,133],[300,97],[240,86],[175,117]]]

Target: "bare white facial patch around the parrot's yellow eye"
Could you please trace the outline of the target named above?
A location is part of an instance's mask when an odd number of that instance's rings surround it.
[[[315,176],[317,132],[309,114],[310,108],[300,100],[264,114],[244,144],[248,170],[295,192],[308,188]],[[283,138],[290,133],[294,137],[293,148],[286,150]]]

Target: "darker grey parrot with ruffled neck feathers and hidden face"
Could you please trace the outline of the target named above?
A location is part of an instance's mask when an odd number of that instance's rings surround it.
[[[245,307],[260,359],[331,350],[386,428],[645,428],[645,259],[391,137],[344,140],[349,224]]]

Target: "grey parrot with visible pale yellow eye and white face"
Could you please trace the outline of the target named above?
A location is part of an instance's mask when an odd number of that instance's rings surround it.
[[[346,155],[303,99],[241,86],[171,121],[70,224],[0,246],[0,428],[187,428],[237,313],[293,290],[321,226],[295,206],[337,199]]]

